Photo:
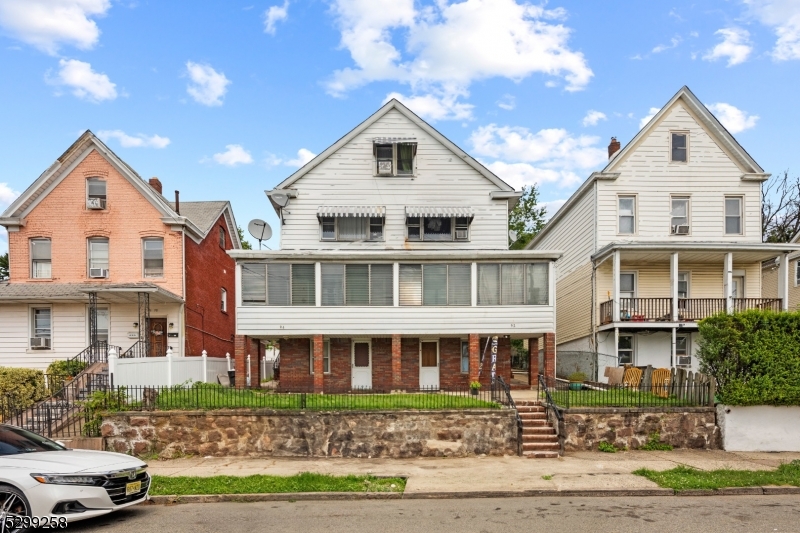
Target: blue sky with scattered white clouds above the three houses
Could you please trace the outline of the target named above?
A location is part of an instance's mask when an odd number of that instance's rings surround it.
[[[551,214],[683,85],[800,173],[798,0],[0,0],[0,66],[0,209],[89,128],[275,227],[263,191],[391,96]]]

